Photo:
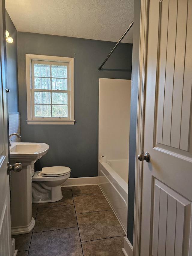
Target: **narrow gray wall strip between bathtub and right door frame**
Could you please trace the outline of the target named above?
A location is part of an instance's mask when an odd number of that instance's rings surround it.
[[[134,197],[135,197],[135,150],[137,129],[137,95],[139,85],[139,39],[141,0],[134,1],[133,62],[131,78],[131,111],[129,132],[129,185],[128,185],[128,228],[127,237],[133,245]]]

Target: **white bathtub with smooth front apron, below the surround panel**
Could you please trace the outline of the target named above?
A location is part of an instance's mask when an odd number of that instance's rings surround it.
[[[98,184],[127,234],[128,160],[98,164]]]

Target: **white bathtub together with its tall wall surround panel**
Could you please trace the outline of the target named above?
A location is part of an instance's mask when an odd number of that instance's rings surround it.
[[[127,232],[131,80],[99,79],[98,184]],[[106,163],[102,163],[102,156]]]

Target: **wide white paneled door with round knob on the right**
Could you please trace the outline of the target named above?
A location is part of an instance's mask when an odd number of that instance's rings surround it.
[[[192,0],[148,3],[140,255],[191,256]]]

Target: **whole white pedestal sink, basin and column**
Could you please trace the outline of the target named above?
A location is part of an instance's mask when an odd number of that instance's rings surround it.
[[[32,218],[32,164],[46,154],[45,143],[11,143],[10,163],[19,162],[22,170],[11,173],[11,234],[29,233],[35,226]]]

